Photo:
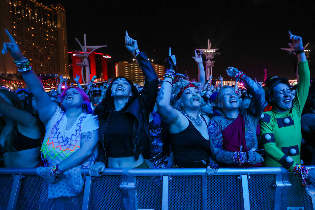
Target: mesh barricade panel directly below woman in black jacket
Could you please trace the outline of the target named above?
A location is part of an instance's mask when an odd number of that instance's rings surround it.
[[[90,210],[123,210],[123,192],[119,189],[121,176],[101,176],[93,180]]]

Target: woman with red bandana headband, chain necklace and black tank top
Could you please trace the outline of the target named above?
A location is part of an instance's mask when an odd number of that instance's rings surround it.
[[[198,65],[202,65],[201,53],[197,55],[195,52],[193,58]],[[171,54],[171,49],[165,61],[167,70],[157,97],[157,109],[163,120],[169,124],[175,167],[207,167],[206,174],[213,174],[219,166],[210,154],[207,129],[210,119],[199,112],[202,101],[200,86],[197,82],[186,80],[173,83],[176,59]],[[170,105],[172,93],[174,102]]]

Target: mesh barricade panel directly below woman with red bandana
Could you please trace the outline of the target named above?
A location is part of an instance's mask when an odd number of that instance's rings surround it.
[[[169,210],[202,209],[202,176],[171,176]]]

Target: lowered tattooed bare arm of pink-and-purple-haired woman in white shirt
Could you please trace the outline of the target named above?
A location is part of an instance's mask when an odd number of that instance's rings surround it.
[[[81,134],[80,148],[59,164],[59,170],[64,172],[86,160],[98,143],[98,129]]]

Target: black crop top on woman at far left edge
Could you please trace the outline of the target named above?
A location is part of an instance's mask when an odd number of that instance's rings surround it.
[[[16,151],[29,150],[42,145],[41,139],[31,139],[20,132],[16,133],[16,140],[13,141],[13,147]]]

